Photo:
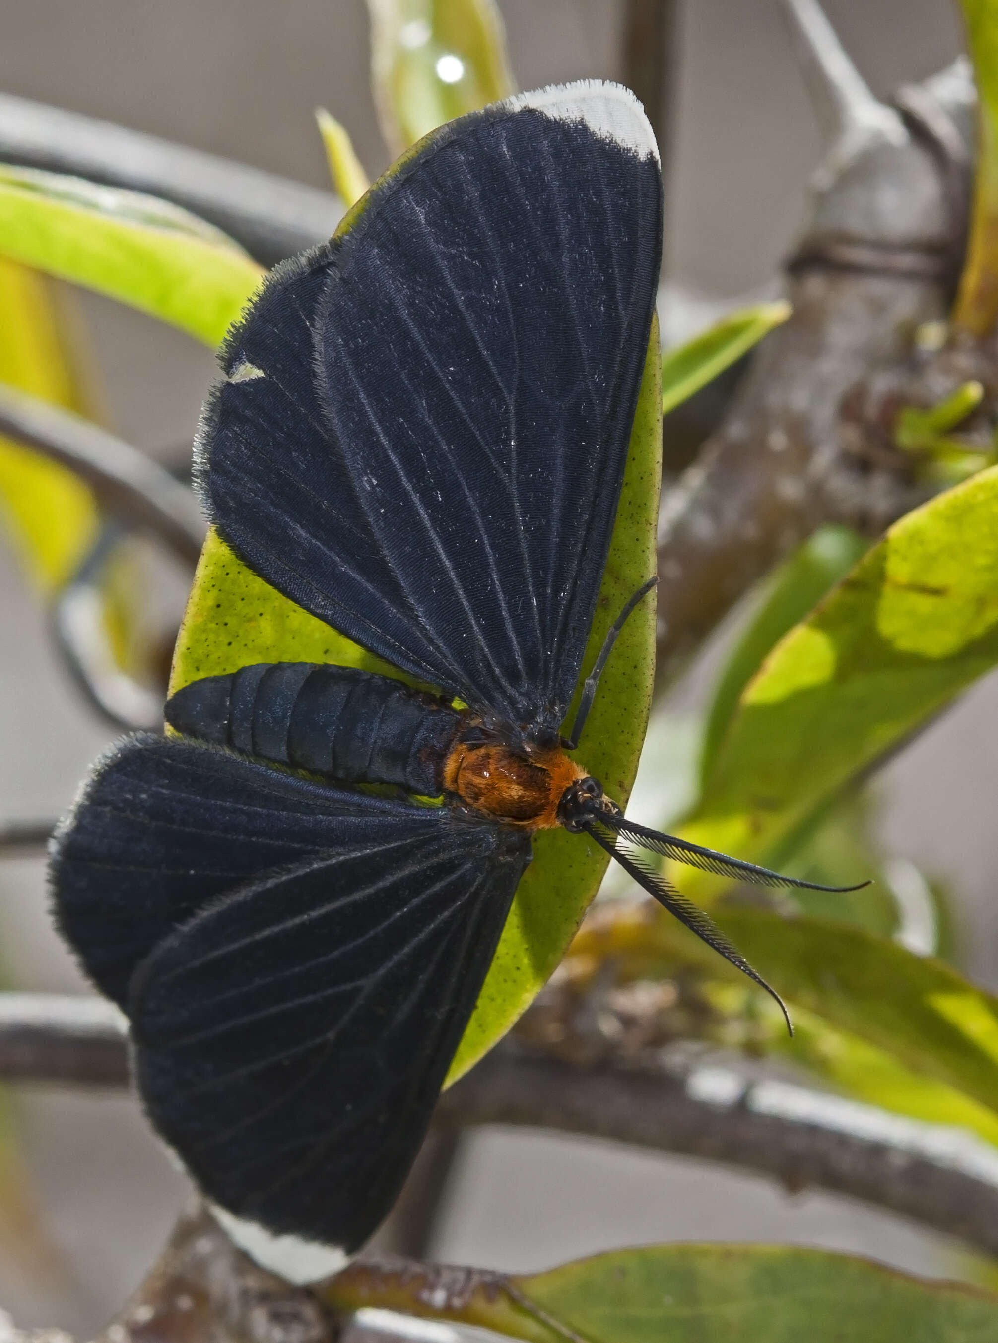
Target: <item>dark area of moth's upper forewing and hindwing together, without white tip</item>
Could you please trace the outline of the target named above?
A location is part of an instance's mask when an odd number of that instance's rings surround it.
[[[650,153],[532,107],[428,137],[232,336],[200,434],[222,535],[414,676],[556,728],[623,478],[660,195]]]

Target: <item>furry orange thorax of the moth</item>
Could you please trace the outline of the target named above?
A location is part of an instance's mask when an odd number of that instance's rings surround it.
[[[586,770],[560,747],[529,752],[500,743],[467,745],[457,741],[443,767],[443,787],[475,811],[525,830],[559,823],[564,792]]]

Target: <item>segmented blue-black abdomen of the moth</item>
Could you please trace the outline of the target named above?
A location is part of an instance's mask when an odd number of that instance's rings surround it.
[[[203,677],[167,701],[185,736],[344,783],[435,796],[462,725],[446,704],[391,677],[314,662],[257,662]]]

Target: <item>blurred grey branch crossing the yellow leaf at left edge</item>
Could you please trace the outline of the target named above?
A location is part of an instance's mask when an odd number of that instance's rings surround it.
[[[70,411],[0,385],[0,434],[69,466],[105,508],[195,564],[207,524],[187,486],[130,443]]]

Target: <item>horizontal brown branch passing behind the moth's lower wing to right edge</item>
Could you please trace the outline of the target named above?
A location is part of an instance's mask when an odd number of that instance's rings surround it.
[[[95,999],[0,994],[0,1077],[121,1085],[124,1018]],[[508,1039],[445,1092],[437,1121],[451,1132],[523,1124],[704,1156],[791,1189],[849,1194],[998,1253],[998,1154],[987,1144],[731,1069],[635,1066],[610,1044],[578,1066]]]

